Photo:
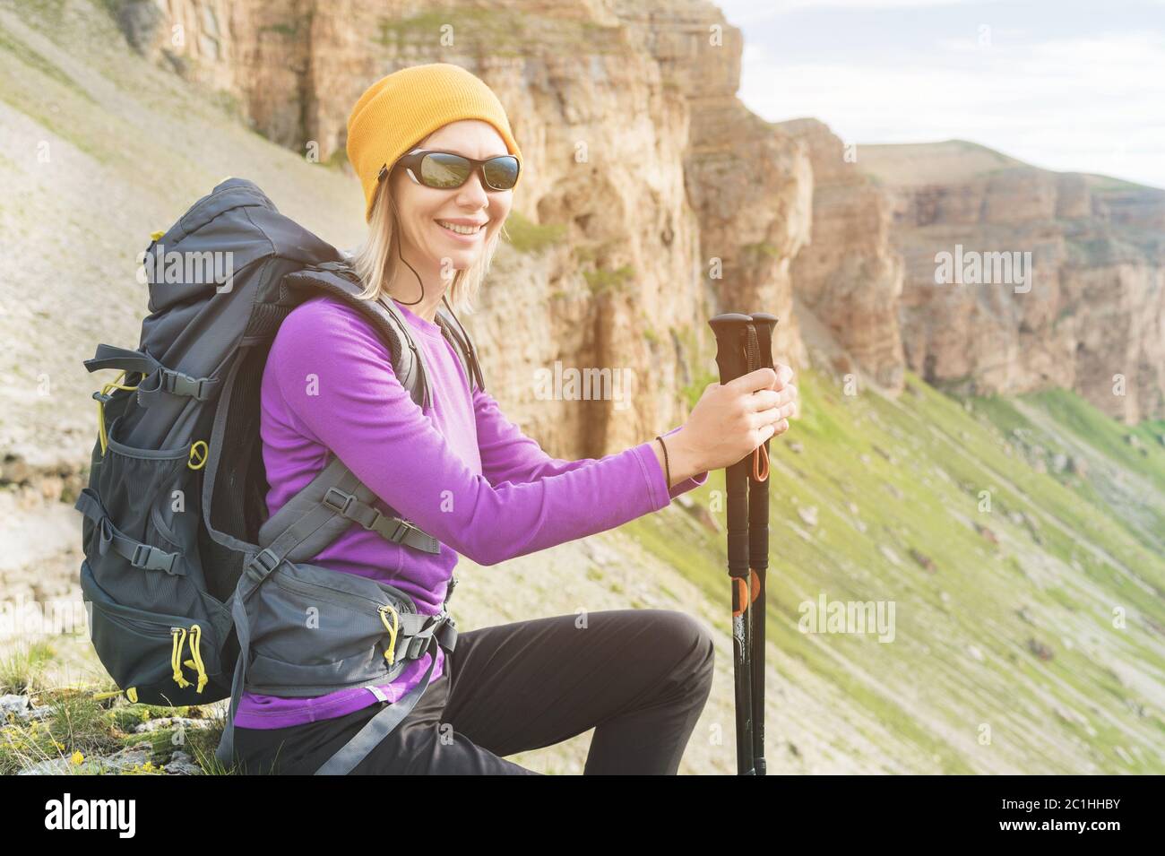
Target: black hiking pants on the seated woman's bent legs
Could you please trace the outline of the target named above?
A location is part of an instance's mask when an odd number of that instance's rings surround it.
[[[713,656],[704,625],[666,609],[469,630],[445,673],[353,774],[537,774],[503,756],[591,728],[585,774],[675,774],[712,689]],[[387,703],[288,728],[236,728],[240,772],[311,774]]]

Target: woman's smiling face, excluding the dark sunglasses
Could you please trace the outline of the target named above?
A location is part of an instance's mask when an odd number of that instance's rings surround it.
[[[438,128],[414,149],[439,149],[486,160],[507,155],[506,141],[489,122],[464,119]],[[481,171],[474,170],[460,188],[438,190],[415,182],[403,168],[393,171],[404,259],[425,267],[468,269],[497,234],[509,214],[513,190],[487,192]],[[473,234],[453,232],[442,224],[480,226]],[[463,229],[464,231],[464,229]]]

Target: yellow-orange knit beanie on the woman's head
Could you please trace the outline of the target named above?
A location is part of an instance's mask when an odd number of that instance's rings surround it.
[[[391,170],[402,155],[431,133],[461,119],[493,125],[509,154],[522,160],[497,95],[460,65],[412,65],[365,90],[348,116],[348,161],[363,186],[365,222],[372,219],[380,168]]]

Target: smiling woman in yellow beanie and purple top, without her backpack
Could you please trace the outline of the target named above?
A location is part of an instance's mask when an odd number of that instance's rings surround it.
[[[273,342],[261,437],[274,515],[338,454],[377,497],[442,543],[438,554],[352,526],[313,564],[405,590],[436,614],[458,553],[482,565],[601,532],[665,507],[788,430],[791,372],[711,384],[682,429],[601,460],[548,457],[472,389],[435,321],[446,292],[467,305],[510,211],[521,153],[502,106],[469,72],[414,66],[369,87],[348,120],[367,241],[365,297],[400,307],[433,384],[422,410],[373,327],[326,296],[297,306]],[[446,155],[474,160],[459,170]],[[492,160],[492,158],[501,160]],[[403,158],[403,160],[402,160]],[[483,163],[482,163],[483,162]],[[464,167],[464,164],[461,164]],[[436,186],[433,186],[436,185]],[[499,580],[497,585],[503,585]],[[356,774],[530,773],[502,756],[595,728],[586,773],[675,773],[711,688],[713,644],[672,610],[536,617],[461,632],[419,702]],[[324,696],[245,693],[236,755],[248,772],[311,773],[422,679]]]

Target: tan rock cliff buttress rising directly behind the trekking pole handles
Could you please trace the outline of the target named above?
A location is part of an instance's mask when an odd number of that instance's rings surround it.
[[[633,44],[650,51],[664,80],[685,97],[683,169],[713,304],[776,314],[777,359],[804,363],[791,264],[810,235],[813,182],[805,147],[736,98],[743,41],[709,3],[621,0],[616,10]]]

